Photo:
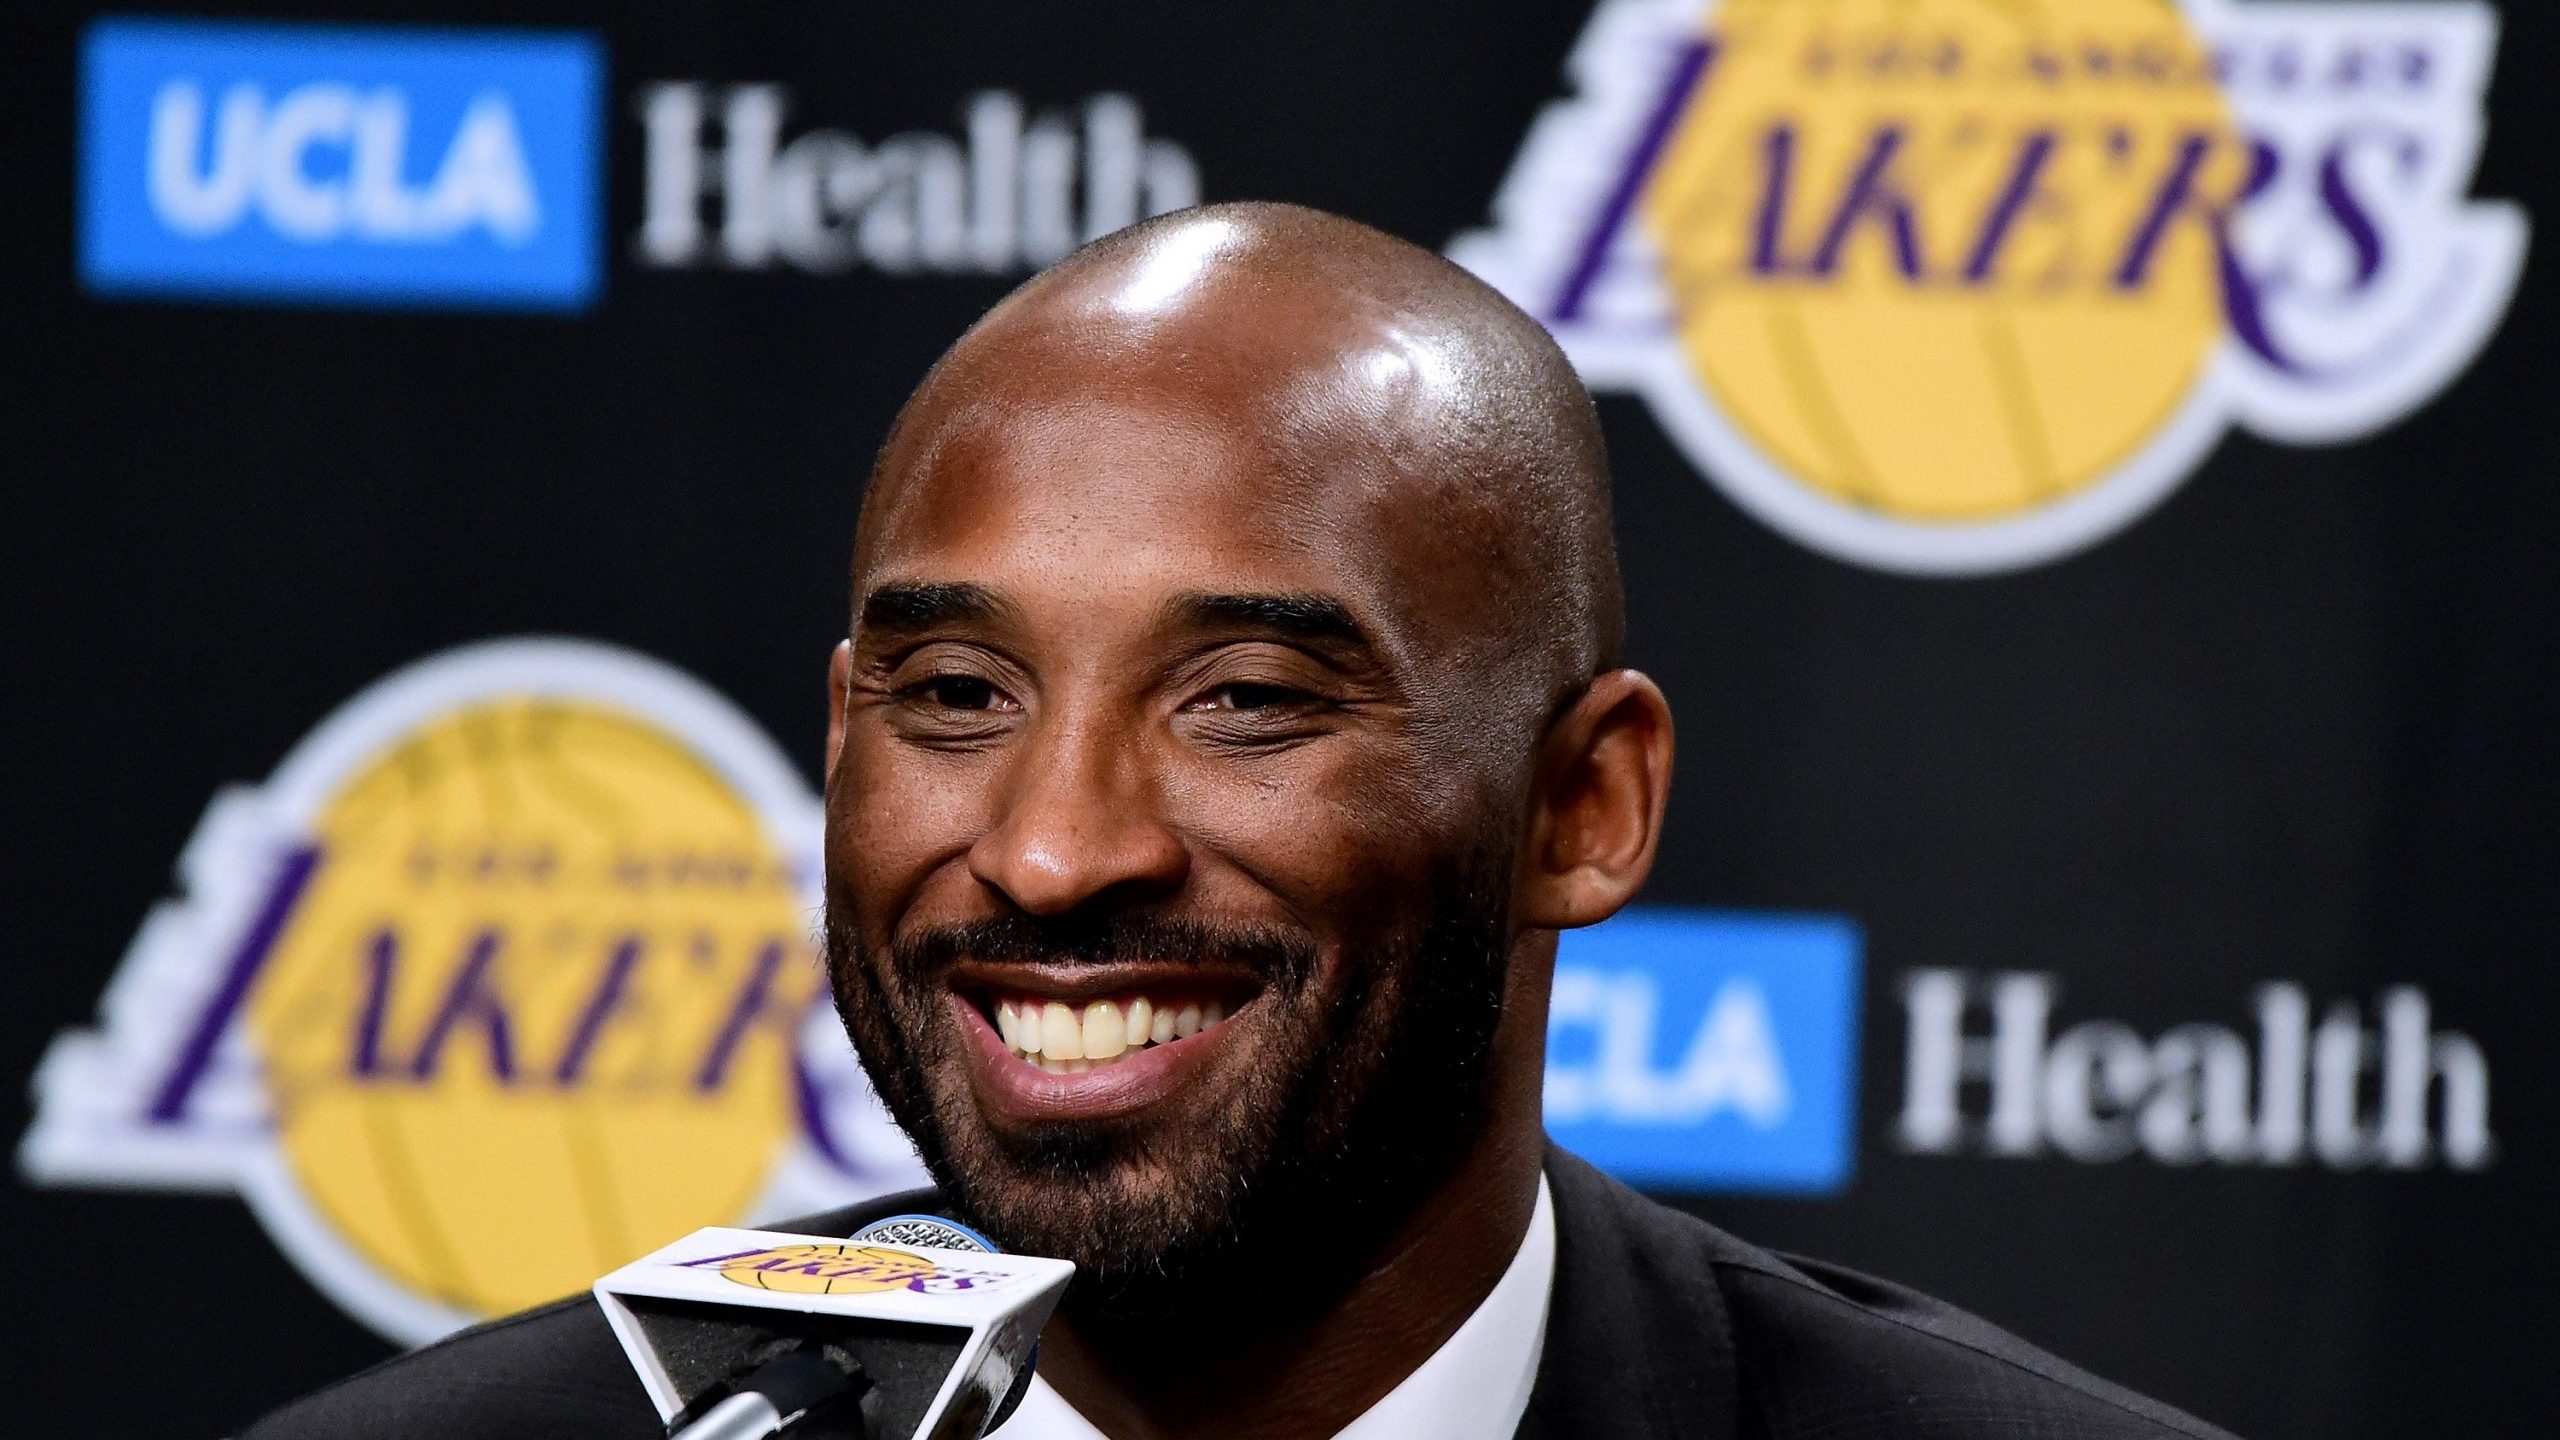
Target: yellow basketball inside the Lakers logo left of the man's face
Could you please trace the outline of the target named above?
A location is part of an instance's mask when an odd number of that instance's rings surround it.
[[[494,1314],[748,1209],[812,961],[773,835],[686,743],[466,705],[312,843],[248,1022],[284,1163],[379,1273]]]

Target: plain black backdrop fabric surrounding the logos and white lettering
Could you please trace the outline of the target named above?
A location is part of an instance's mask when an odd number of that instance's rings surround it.
[[[970,95],[1126,92],[1206,197],[1421,243],[1487,223],[1580,5],[330,5],[568,26],[609,51],[607,279],[581,315],[100,300],[74,261],[84,10],[15,15],[8,574],[13,1004],[0,1068],[90,1025],[207,797],[453,643],[589,635],[740,702],[814,779],[860,474],[1009,277],[635,259],[650,79],[776,79],[794,126],[957,131]],[[2473,195],[2560,215],[2560,20],[2506,5]],[[1859,1168],[1684,1197],[2263,1437],[2532,1435],[2560,1407],[2560,284],[2417,418],[2230,436],[2158,512],[2015,574],[1907,579],[1743,515],[1603,397],[1633,661],[1682,720],[1656,902],[1866,935]],[[2376,1020],[2424,986],[2493,1074],[2486,1166],[1912,1153],[1905,976],[2058,976],[2056,1027],[2248,1033],[2260,984]],[[1971,1015],[1979,1033],[1987,1020]],[[1969,1102],[1979,1107],[1979,1094]],[[33,1109],[28,1112],[31,1120]],[[5,1191],[13,1363],[92,1435],[205,1432],[387,1343],[236,1199]],[[136,1361],[172,1384],[133,1384]],[[110,1379],[113,1376],[113,1379]],[[28,1404],[20,1391],[10,1404]]]

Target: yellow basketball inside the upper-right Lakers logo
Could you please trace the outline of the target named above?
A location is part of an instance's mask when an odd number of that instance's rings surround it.
[[[1736,0],[1644,218],[1679,348],[1756,446],[1843,505],[1987,520],[2186,402],[2222,338],[2189,215],[2245,179],[2158,0]]]

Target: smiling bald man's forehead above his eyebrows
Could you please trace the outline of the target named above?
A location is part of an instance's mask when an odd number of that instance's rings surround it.
[[[945,389],[876,477],[858,600],[965,582],[1137,620],[1183,592],[1306,592],[1413,661],[1508,633],[1487,566],[1510,541],[1480,502],[1452,502],[1475,466],[1441,464],[1434,425],[1395,397],[1436,382],[1428,364],[1341,348],[1313,379],[1290,366],[1242,397],[1172,379],[1075,366]]]

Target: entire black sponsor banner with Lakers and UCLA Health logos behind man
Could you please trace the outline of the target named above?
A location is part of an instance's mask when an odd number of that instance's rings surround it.
[[[1559,1140],[2245,1435],[2560,1407],[2547,8],[348,0],[0,64],[38,1414],[220,1432],[922,1179],[809,938],[863,474],[1014,282],[1242,197],[1600,397],[1682,766]]]

